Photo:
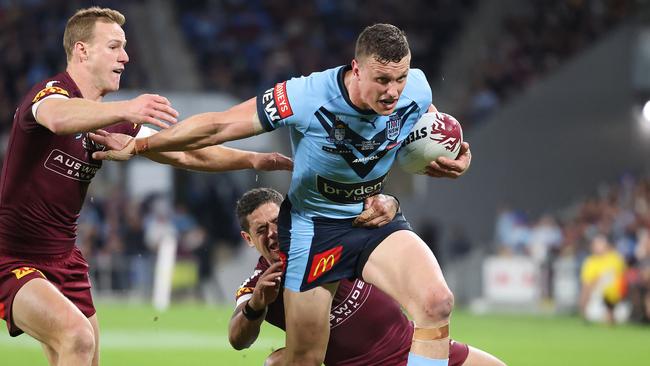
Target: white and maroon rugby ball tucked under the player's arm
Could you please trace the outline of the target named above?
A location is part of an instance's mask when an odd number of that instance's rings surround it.
[[[441,156],[456,159],[462,143],[463,129],[456,118],[441,112],[425,113],[402,143],[397,162],[407,173],[424,174],[426,166]]]

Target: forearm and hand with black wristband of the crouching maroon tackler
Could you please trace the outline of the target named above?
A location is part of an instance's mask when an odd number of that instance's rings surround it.
[[[282,262],[273,263],[257,280],[252,296],[243,301],[230,318],[228,340],[236,350],[250,347],[260,334],[267,307],[280,292]]]

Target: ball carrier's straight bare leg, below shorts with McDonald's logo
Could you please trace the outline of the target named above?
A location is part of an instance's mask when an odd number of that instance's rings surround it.
[[[320,366],[330,334],[329,315],[338,282],[305,292],[284,289],[285,365]]]

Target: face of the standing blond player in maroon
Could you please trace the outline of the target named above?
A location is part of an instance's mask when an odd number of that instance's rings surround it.
[[[129,62],[124,30],[116,23],[95,23],[92,40],[88,43],[88,67],[93,84],[101,95],[116,91],[124,65]]]

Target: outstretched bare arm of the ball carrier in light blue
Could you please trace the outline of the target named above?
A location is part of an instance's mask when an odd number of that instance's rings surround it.
[[[262,124],[255,100],[249,99],[225,112],[194,115],[153,136],[135,139],[122,150],[96,152],[93,158],[128,160],[136,154],[195,150],[256,135],[262,132]]]

